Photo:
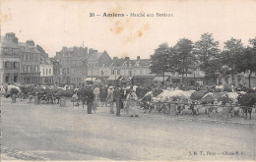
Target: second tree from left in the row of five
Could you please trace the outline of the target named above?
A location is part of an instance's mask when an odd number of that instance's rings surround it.
[[[183,77],[190,73],[189,70],[194,69],[196,57],[192,53],[193,42],[187,38],[178,40],[174,46],[173,63],[175,63],[175,71]]]

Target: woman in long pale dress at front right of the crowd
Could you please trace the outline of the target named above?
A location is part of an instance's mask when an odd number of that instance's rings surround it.
[[[127,114],[131,117],[139,117],[139,111],[136,104],[138,97],[134,92],[133,88],[130,89],[130,93],[127,95]]]

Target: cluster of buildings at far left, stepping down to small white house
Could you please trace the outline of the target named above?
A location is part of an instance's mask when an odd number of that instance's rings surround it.
[[[1,36],[2,83],[53,83],[53,60],[38,51],[32,40],[19,42],[15,33]]]

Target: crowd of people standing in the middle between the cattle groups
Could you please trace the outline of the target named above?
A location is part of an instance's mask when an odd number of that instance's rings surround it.
[[[88,114],[92,114],[93,110],[96,111],[97,107],[109,107],[109,113],[118,117],[121,115],[121,109],[127,116],[139,117],[137,102],[149,90],[151,89],[142,86],[121,84],[115,86],[86,85],[76,90],[72,101],[76,103],[75,106],[87,103]]]

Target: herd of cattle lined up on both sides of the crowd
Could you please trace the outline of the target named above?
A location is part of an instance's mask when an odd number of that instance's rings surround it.
[[[41,86],[42,88],[45,88]],[[1,93],[10,93],[12,88],[16,88],[21,92],[21,88],[16,85],[8,85],[8,87],[4,88],[3,86],[0,87]],[[68,90],[70,86],[65,85],[64,87],[54,87],[61,90]],[[73,88],[73,91],[78,91],[79,88]],[[144,97],[138,99],[138,105],[144,108],[144,113],[151,113],[153,110],[156,110],[161,113],[175,113],[176,115],[182,115],[184,112],[190,112],[192,115],[198,115],[201,109],[205,110],[205,113],[211,117],[214,113],[222,114],[224,112],[228,113],[229,117],[233,116],[245,116],[247,119],[247,115],[249,115],[249,119],[251,119],[252,109],[255,107],[248,107],[248,106],[240,106],[237,102],[237,96],[239,93],[244,92],[225,92],[222,93],[223,96],[227,96],[231,98],[230,103],[223,104],[222,101],[218,101],[217,99],[212,99],[210,102],[202,102],[201,100],[192,100],[191,94],[195,90],[178,90],[178,89],[171,89],[171,90],[162,90],[159,95],[154,95],[154,91],[148,91]],[[202,98],[206,98],[211,96],[214,98],[213,93],[207,93]],[[229,96],[228,96],[229,95]],[[32,98],[34,96],[27,95],[27,97],[23,96],[23,99],[28,98],[29,102],[32,102]],[[61,97],[58,95],[41,95],[40,101],[41,103],[60,103]],[[81,99],[77,101],[83,102]],[[173,111],[174,110],[174,111]]]

